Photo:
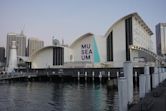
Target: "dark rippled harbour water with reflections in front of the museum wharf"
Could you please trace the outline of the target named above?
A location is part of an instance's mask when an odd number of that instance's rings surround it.
[[[116,90],[103,84],[0,84],[0,111],[117,111]]]

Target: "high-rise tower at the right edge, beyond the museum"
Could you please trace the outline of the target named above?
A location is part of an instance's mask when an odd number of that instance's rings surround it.
[[[158,55],[166,55],[166,23],[156,25],[156,50]]]

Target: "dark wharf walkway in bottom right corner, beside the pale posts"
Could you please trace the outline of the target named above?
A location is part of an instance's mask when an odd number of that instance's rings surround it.
[[[147,109],[147,107],[150,108]],[[166,80],[160,83],[157,88],[152,89],[137,104],[129,108],[129,111],[166,111]]]

